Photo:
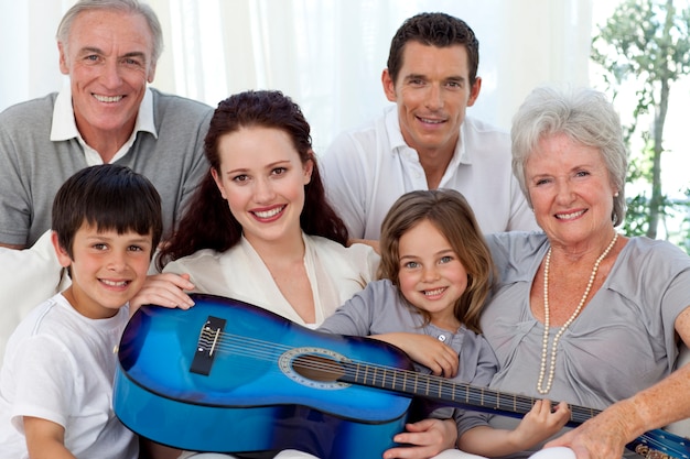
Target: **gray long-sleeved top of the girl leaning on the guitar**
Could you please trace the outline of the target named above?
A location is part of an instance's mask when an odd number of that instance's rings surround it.
[[[488,342],[461,326],[450,332],[431,324],[423,324],[422,316],[405,303],[398,288],[388,280],[375,281],[343,304],[334,315],[326,318],[319,330],[338,335],[370,336],[389,332],[413,332],[434,337],[450,346],[460,356],[457,375],[451,381],[486,386],[496,372],[496,357]],[[423,365],[414,363],[418,371],[430,374]],[[435,409],[433,417],[450,418],[457,424],[462,435],[472,427],[486,425],[486,415],[459,408]]]

